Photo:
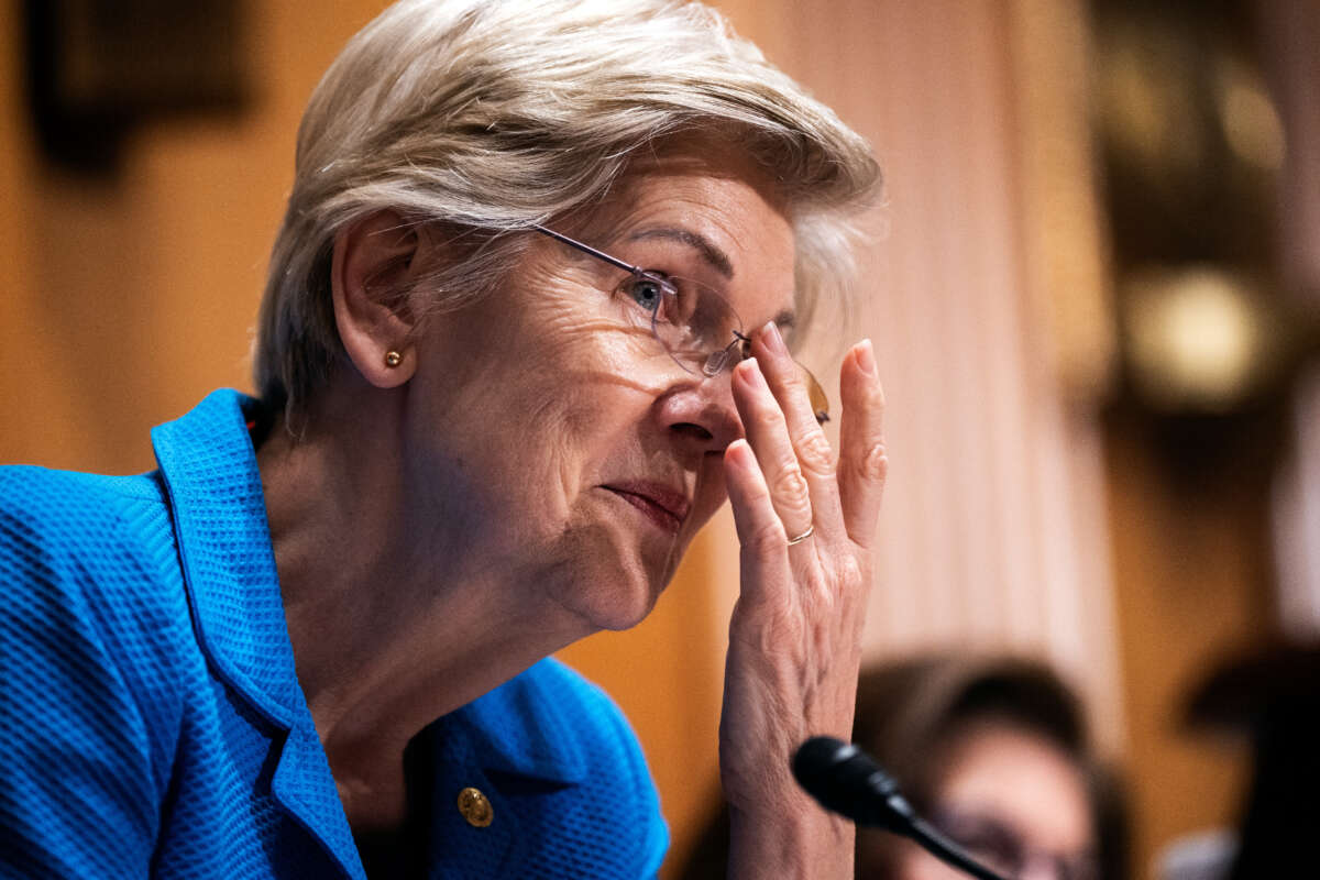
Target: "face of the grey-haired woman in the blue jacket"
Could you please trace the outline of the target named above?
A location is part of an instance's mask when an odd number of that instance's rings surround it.
[[[722,292],[747,331],[792,313],[789,222],[727,152],[649,160],[586,226],[561,231]],[[428,321],[408,392],[412,483],[454,541],[438,558],[511,571],[589,631],[651,610],[742,433],[729,372],[678,367],[626,277],[535,237],[503,289]]]

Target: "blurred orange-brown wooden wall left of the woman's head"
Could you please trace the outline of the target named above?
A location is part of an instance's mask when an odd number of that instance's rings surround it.
[[[44,162],[22,90],[20,0],[4,0],[5,235],[0,459],[152,464],[145,427],[248,387],[249,329],[293,177],[302,106],[379,3],[246,8],[253,100],[133,131],[112,175]],[[147,51],[149,49],[144,49]]]

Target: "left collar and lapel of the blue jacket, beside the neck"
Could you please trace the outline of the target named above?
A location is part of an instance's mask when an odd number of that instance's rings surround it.
[[[257,404],[216,391],[152,430],[189,607],[216,676],[280,732],[271,793],[354,879],[358,847],[298,686],[247,420]]]

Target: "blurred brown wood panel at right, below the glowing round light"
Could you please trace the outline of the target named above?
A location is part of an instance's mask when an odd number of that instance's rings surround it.
[[[1125,763],[1134,876],[1173,839],[1234,827],[1250,773],[1246,741],[1193,731],[1188,701],[1209,672],[1275,632],[1263,462],[1179,484],[1148,425],[1107,430]]]

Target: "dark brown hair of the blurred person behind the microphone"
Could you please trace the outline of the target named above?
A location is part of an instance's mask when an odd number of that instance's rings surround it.
[[[1100,880],[1127,876],[1129,831],[1117,773],[1094,759],[1077,695],[1044,664],[1003,656],[920,654],[862,670],[853,741],[875,757],[919,810],[941,768],[931,757],[975,722],[1003,720],[1056,745],[1081,768]],[[858,829],[859,880],[892,876],[883,831]],[[690,850],[680,880],[725,876],[729,811],[721,806]]]

